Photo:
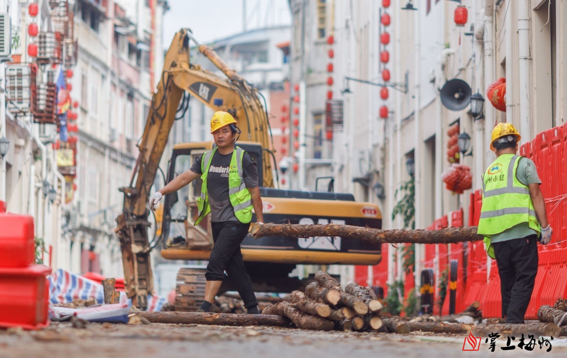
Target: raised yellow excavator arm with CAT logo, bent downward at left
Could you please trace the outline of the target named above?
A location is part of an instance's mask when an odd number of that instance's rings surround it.
[[[180,30],[166,53],[161,80],[139,142],[132,180],[128,187],[120,188],[124,192],[124,207],[122,214],[116,218],[116,232],[122,250],[125,289],[128,297],[132,298],[132,304],[141,309],[147,308],[147,295],[153,293],[150,251],[157,244],[150,243],[148,239],[147,201],[179,104],[185,99],[185,91],[214,111],[231,113],[242,130],[240,139],[260,142],[266,150],[272,148],[268,115],[257,90],[231,70],[212,49],[198,45],[196,41],[198,50],[227,78],[191,64],[189,39],[193,39],[191,33],[186,29]],[[181,107],[184,107],[183,104]],[[270,155],[263,155],[263,185],[267,187],[273,187],[270,159]]]

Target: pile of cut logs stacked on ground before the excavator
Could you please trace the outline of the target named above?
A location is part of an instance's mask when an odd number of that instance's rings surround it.
[[[305,292],[292,292],[290,302],[269,306],[262,313],[285,316],[298,328],[311,330],[370,331],[382,327],[382,304],[372,289],[350,283],[343,290],[323,271],[315,273],[315,280]]]

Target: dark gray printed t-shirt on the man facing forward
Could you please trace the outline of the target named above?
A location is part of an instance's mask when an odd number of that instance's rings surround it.
[[[203,174],[201,171],[201,159],[202,157],[197,158],[189,170],[195,174]],[[211,222],[238,221],[236,216],[234,216],[234,209],[229,199],[229,166],[231,159],[232,153],[221,154],[217,150],[209,167],[207,192],[211,208]],[[242,167],[242,176],[246,187],[257,187],[258,169],[256,162],[248,153],[244,153]]]

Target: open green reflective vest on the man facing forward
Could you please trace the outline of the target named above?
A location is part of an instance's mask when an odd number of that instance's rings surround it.
[[[217,152],[217,148],[206,151],[201,158],[201,196],[197,197],[197,208],[199,217],[194,225],[198,225],[207,214],[211,212],[209,205],[209,194],[207,193],[207,176],[209,175],[209,167],[213,161],[213,155]],[[234,208],[234,216],[243,224],[252,221],[252,195],[246,188],[243,179],[242,158],[244,157],[244,149],[236,147],[232,152],[229,167],[229,199]]]

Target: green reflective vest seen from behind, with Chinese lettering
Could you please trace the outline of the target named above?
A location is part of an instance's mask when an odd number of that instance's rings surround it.
[[[483,174],[483,208],[477,233],[485,236],[486,253],[493,259],[490,235],[502,233],[522,222],[540,232],[530,191],[516,178],[520,158],[520,155],[502,154]]]

